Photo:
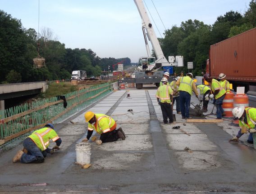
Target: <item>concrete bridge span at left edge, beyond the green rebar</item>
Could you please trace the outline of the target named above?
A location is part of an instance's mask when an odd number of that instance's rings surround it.
[[[5,110],[5,100],[45,92],[47,82],[27,82],[0,85],[0,110]]]

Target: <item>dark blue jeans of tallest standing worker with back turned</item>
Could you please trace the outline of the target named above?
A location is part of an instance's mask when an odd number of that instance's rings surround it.
[[[183,117],[189,117],[191,95],[185,91],[179,91],[180,110]]]

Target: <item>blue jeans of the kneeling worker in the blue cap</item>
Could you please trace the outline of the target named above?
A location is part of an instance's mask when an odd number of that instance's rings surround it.
[[[23,147],[27,150],[27,154],[25,153],[22,154],[21,160],[20,160],[21,163],[32,163],[32,162],[35,162],[38,158],[43,160],[44,156],[41,150],[37,147],[34,141],[32,141],[32,139],[30,139],[29,137],[27,137],[23,141]]]

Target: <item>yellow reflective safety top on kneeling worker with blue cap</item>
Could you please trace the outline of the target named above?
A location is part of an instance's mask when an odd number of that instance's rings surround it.
[[[28,137],[35,142],[41,151],[46,150],[50,145],[50,140],[56,141],[59,139],[58,134],[52,128],[41,128]]]

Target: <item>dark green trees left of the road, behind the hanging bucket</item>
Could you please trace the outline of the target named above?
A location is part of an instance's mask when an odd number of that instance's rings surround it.
[[[123,61],[131,64],[130,58],[101,58],[91,49],[65,48],[53,37],[49,28],[25,29],[19,19],[0,10],[0,83],[34,82],[70,79],[74,70],[85,70],[87,75],[99,76],[101,71],[112,70],[112,65]],[[32,59],[46,59],[47,68],[33,68]]]

